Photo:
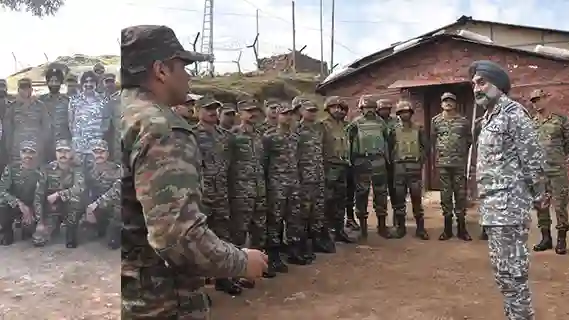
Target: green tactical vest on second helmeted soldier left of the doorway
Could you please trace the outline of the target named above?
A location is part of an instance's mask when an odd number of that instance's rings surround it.
[[[385,153],[385,125],[376,120],[359,120],[356,122],[358,128],[358,143],[353,150],[358,156],[373,156]]]

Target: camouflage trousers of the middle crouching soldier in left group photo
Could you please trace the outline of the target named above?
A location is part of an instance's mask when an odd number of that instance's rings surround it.
[[[84,210],[84,206],[78,201],[70,201],[68,203],[59,201],[54,205],[46,204],[44,206],[44,214],[40,218],[36,231],[32,236],[33,242],[36,244],[49,242],[59,231],[62,222],[65,223],[66,228],[77,228]]]

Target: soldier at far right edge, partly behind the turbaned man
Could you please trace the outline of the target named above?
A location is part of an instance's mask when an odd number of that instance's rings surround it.
[[[545,151],[547,161],[546,174],[551,183],[553,207],[557,216],[557,254],[567,254],[567,205],[569,204],[569,182],[567,181],[567,156],[569,155],[569,119],[567,116],[546,113],[547,95],[543,90],[534,90],[530,100],[536,112],[534,123],[537,128],[540,145]],[[553,248],[551,238],[550,207],[538,210],[538,227],[541,229],[541,242],[533,247],[534,251]]]

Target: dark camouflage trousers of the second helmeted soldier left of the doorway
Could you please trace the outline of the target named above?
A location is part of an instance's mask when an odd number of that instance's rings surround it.
[[[368,217],[368,199],[373,191],[373,209],[377,217],[387,216],[388,176],[385,166],[373,167],[371,161],[354,166],[356,185],[356,214],[360,219]]]

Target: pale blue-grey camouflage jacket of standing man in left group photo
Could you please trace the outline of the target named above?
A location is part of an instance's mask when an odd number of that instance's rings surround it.
[[[91,153],[91,142],[105,138],[112,117],[106,102],[101,95],[95,95],[93,101],[82,93],[70,98],[69,130],[75,152]]]

